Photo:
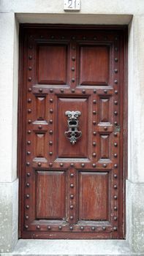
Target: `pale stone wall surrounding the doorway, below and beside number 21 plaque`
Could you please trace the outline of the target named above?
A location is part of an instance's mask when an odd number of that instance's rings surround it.
[[[144,252],[144,1],[83,0],[65,13],[62,0],[0,1],[0,249],[18,240],[17,113],[19,23],[128,24],[129,147],[126,241]],[[59,242],[60,243],[60,242]],[[107,242],[106,242],[107,243]]]

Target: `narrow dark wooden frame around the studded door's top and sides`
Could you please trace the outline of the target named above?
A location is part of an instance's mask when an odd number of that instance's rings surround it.
[[[21,218],[23,218],[21,214],[21,197],[22,197],[22,189],[21,184],[22,180],[24,181],[25,177],[22,176],[22,168],[23,168],[23,161],[22,161],[22,148],[23,148],[23,126],[25,125],[25,118],[23,118],[23,105],[26,102],[26,99],[23,99],[23,61],[26,61],[26,56],[23,56],[23,30],[24,29],[35,29],[35,28],[59,28],[59,29],[97,29],[97,30],[115,30],[115,31],[122,31],[124,35],[124,42],[123,42],[123,59],[124,65],[122,67],[123,70],[123,80],[124,80],[124,91],[123,91],[123,100],[124,100],[124,147],[121,148],[121,152],[123,151],[123,159],[124,159],[124,177],[123,177],[123,209],[124,209],[124,218],[123,218],[123,230],[124,230],[124,238],[125,238],[125,222],[126,222],[126,178],[127,178],[127,42],[128,42],[128,29],[127,26],[96,26],[96,25],[65,25],[65,24],[21,24],[20,25],[20,58],[19,58],[19,83],[18,83],[18,177],[20,178],[19,181],[19,238],[20,238],[20,222]]]

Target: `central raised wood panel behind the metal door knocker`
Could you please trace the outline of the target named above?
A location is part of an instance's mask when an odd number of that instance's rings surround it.
[[[65,115],[67,110],[81,112],[78,129],[82,132],[82,136],[75,145],[72,145],[64,134],[69,130],[67,116]],[[58,98],[57,118],[58,157],[88,158],[88,98]]]

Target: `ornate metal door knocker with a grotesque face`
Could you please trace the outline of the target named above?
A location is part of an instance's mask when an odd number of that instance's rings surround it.
[[[66,111],[65,115],[68,118],[67,124],[68,124],[69,130],[67,132],[64,132],[64,134],[70,140],[70,143],[72,143],[72,145],[75,145],[77,140],[82,135],[82,132],[77,130],[77,128],[79,127],[78,117],[81,116],[81,112],[80,111]]]

